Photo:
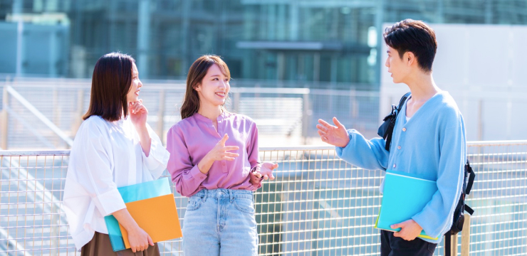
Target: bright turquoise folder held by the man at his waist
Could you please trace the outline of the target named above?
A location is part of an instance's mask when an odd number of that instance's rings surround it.
[[[397,171],[386,171],[382,203],[375,228],[400,231],[401,228],[393,229],[390,225],[412,219],[412,216],[420,213],[424,206],[427,206],[436,191],[435,181],[412,177]],[[424,230],[418,237],[439,239],[430,237],[424,233]]]

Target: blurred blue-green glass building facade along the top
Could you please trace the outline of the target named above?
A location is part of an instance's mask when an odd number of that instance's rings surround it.
[[[0,73],[89,78],[120,50],[142,78],[178,79],[213,53],[235,79],[375,89],[382,24],[404,18],[526,24],[527,1],[0,0]]]

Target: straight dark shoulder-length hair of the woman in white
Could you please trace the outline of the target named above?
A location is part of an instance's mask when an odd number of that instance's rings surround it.
[[[121,114],[127,117],[132,63],[135,60],[122,53],[108,53],[97,60],[91,80],[90,107],[83,119],[98,115],[113,122],[121,119]]]

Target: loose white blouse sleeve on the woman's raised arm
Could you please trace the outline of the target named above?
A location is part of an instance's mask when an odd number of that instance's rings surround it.
[[[145,152],[141,150],[142,161],[150,171],[154,179],[159,178],[165,169],[169,160],[170,153],[163,146],[161,139],[147,124],[148,134],[150,135],[150,154],[145,155]]]

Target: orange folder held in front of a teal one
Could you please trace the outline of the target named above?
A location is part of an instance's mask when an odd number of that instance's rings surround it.
[[[150,235],[152,241],[161,242],[183,236],[177,216],[174,195],[157,196],[145,200],[126,203],[126,208],[137,225]],[[119,223],[125,247],[130,248],[128,233]]]

